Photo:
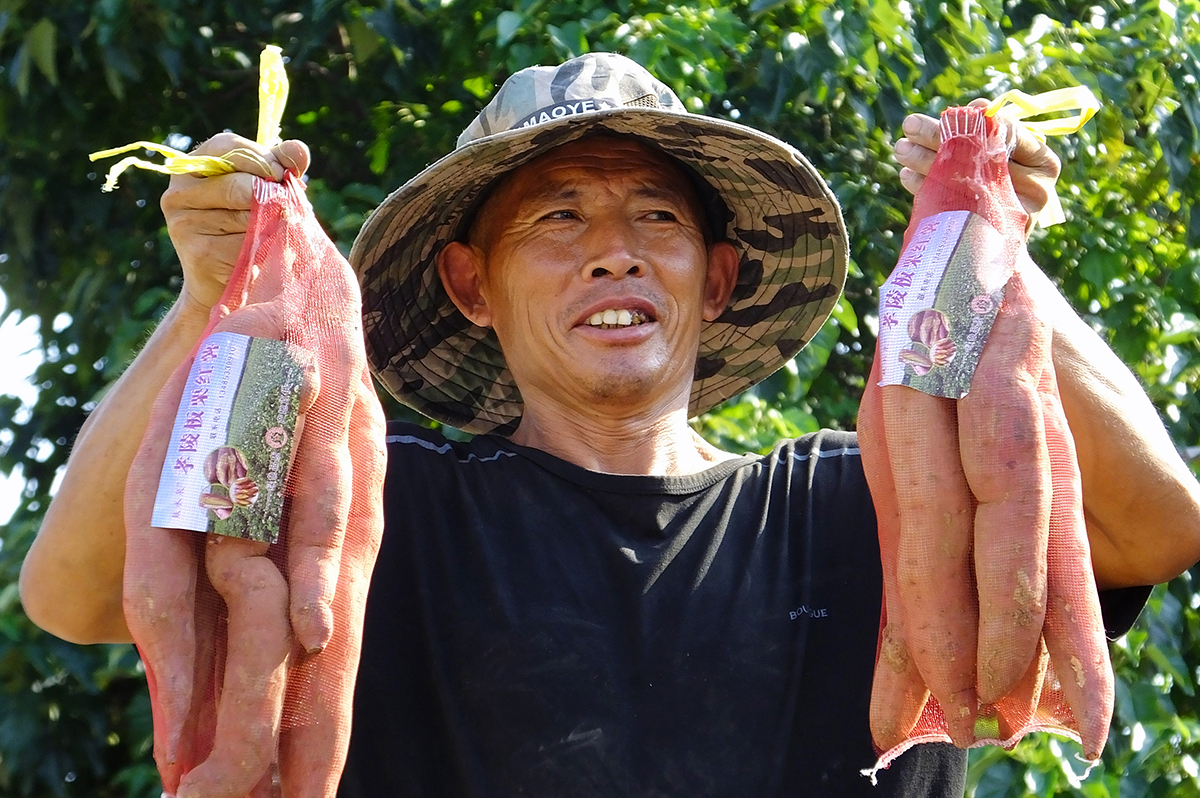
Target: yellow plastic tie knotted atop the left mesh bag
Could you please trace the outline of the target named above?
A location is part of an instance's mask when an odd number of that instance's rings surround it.
[[[283,108],[288,102],[288,76],[283,70],[282,50],[275,44],[268,44],[258,60],[258,138],[263,146],[275,146],[280,143],[280,122],[283,120]],[[109,170],[102,191],[116,188],[116,179],[130,167],[150,169],[162,174],[191,174],[209,178],[236,172],[238,167],[229,156],[238,155],[254,161],[264,173],[270,173],[270,164],[258,152],[239,148],[223,156],[187,155],[164,144],[154,142],[134,142],[125,146],[92,152],[91,161],[110,158],[132,150],[150,150],[163,156],[162,163],[128,156],[118,161]]]

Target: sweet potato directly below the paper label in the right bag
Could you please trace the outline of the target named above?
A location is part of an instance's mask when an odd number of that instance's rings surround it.
[[[974,742],[973,506],[959,462],[953,400],[906,385],[881,389],[900,512],[896,587],[908,652],[946,714],[955,745]]]

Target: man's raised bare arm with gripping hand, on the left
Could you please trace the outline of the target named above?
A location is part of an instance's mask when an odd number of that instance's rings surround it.
[[[254,149],[280,179],[302,173],[308,152],[299,142],[266,151],[222,133],[197,154]],[[257,173],[253,162],[238,162]],[[264,175],[268,176],[268,175]],[[184,270],[179,299],[145,347],[88,416],[62,482],[20,571],[20,598],[38,626],[77,643],[127,642],[121,611],[125,564],[125,476],[142,442],[150,407],[208,324],[241,250],[252,192],[251,174],[176,175],[162,210]]]

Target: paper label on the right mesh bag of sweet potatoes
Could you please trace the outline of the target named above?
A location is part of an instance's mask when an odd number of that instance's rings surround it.
[[[966,396],[1012,274],[1012,248],[982,216],[922,220],[880,288],[880,385]]]

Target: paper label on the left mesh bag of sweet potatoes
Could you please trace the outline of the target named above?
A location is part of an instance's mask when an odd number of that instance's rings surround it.
[[[156,527],[276,542],[304,353],[216,332],[196,353],[158,480]]]

